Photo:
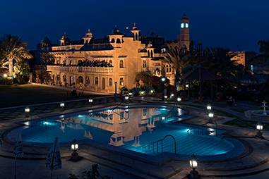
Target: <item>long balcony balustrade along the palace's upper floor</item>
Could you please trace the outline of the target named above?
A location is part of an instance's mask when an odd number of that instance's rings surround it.
[[[47,70],[59,73],[114,73],[114,67],[47,66]]]

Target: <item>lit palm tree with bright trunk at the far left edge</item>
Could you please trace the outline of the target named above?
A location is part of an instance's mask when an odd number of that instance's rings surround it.
[[[13,61],[23,61],[25,58],[32,58],[30,55],[28,43],[23,42],[20,37],[5,35],[0,38],[0,48],[3,58],[8,61],[9,74],[13,72]]]

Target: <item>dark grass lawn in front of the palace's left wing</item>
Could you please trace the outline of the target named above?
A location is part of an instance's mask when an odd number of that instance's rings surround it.
[[[84,92],[83,97],[66,97],[66,91],[70,92],[71,90],[73,89],[66,88],[66,90],[61,90],[31,84],[18,85],[17,87],[14,85],[0,85],[0,108],[102,96]]]

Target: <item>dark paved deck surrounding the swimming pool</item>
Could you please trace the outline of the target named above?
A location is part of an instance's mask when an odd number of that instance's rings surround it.
[[[160,99],[150,97],[133,97],[131,99],[134,104],[165,104],[167,102]],[[186,118],[179,123],[191,125],[201,125],[208,120],[206,111],[201,107],[205,107],[206,103],[198,103],[197,99],[181,102],[181,108],[185,109],[192,118]],[[76,111],[85,111],[88,109],[97,109],[104,106],[119,104],[119,101],[110,102],[109,104],[97,104],[92,107],[83,107],[78,109],[69,109],[64,112],[46,113],[45,116],[56,116],[64,113]],[[54,105],[54,104],[44,104]],[[171,104],[170,104],[171,105]],[[245,101],[239,101],[237,106],[220,108],[214,106],[213,109],[219,109],[234,116],[249,120],[244,113],[234,111],[234,109],[258,109],[258,106],[246,104]],[[18,110],[13,108],[14,111]],[[0,109],[0,112],[4,111]],[[42,111],[40,111],[42,113]],[[44,116],[44,115],[42,115]],[[196,169],[201,178],[268,178],[269,175],[269,132],[263,131],[264,140],[253,138],[256,130],[249,128],[239,128],[230,125],[222,125],[226,121],[233,118],[221,118],[216,116],[218,128],[227,130],[227,136],[239,137],[246,149],[243,154],[230,159],[220,159],[215,161],[198,161]],[[8,130],[18,128],[20,123],[29,121],[30,118],[16,118],[0,123],[0,132],[3,134],[4,147],[0,148],[0,178],[14,178],[14,159],[12,156],[13,142],[6,137]],[[214,125],[212,125],[213,127]],[[44,161],[47,158],[50,147],[36,147],[23,145],[25,156],[17,159],[17,178],[49,178],[49,168],[44,167]],[[69,173],[82,175],[83,171],[90,171],[93,163],[98,163],[101,175],[111,175],[113,178],[187,178],[191,168],[189,161],[186,159],[169,158],[164,161],[154,162],[140,157],[134,157],[121,152],[97,147],[94,144],[80,144],[78,150],[80,161],[70,161],[71,149],[70,145],[61,146],[62,168],[53,171],[53,178],[66,178]],[[198,157],[199,159],[199,157]]]

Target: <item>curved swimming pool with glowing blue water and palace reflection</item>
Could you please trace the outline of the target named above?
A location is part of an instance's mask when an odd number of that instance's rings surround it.
[[[213,156],[230,152],[234,145],[220,138],[204,135],[189,135],[191,126],[174,125],[163,119],[171,108],[128,108],[104,110],[66,118],[51,118],[46,121],[33,121],[32,128],[21,130],[24,144],[49,145],[59,137],[60,144],[70,144],[76,138],[79,142],[91,140],[104,144],[122,147],[136,152],[155,155],[150,146],[145,150],[143,145],[162,140],[166,135],[172,135],[177,142],[177,154],[196,154],[198,156]],[[184,115],[177,109],[173,115]],[[168,120],[169,121],[169,120]],[[15,134],[15,131],[14,131]],[[9,135],[10,140],[11,136]],[[159,152],[162,145],[158,144]],[[174,153],[174,140],[167,137],[163,141],[163,152]]]

